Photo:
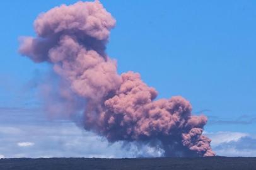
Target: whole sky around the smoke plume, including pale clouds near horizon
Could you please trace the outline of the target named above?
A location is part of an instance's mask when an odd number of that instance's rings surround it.
[[[40,110],[37,89],[28,88],[48,66],[21,57],[18,37],[35,35],[39,13],[75,2],[1,3],[0,157],[65,156],[65,150],[68,156],[124,157],[120,144],[109,146],[68,120],[49,121]],[[195,114],[209,116],[205,130],[217,154],[256,156],[256,1],[101,2],[117,20],[107,52],[120,73],[139,72],[158,90],[158,98],[182,95]],[[31,128],[41,130],[40,137],[30,134]],[[63,135],[58,129],[73,130]],[[76,151],[67,141],[84,148],[98,141],[103,149]],[[20,149],[11,151],[14,146]],[[55,151],[47,155],[49,148]]]

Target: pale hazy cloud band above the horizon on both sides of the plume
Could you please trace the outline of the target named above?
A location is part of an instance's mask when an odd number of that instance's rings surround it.
[[[0,115],[1,118],[1,115]],[[0,119],[1,120],[1,119]],[[0,123],[1,124],[1,123]],[[242,132],[205,132],[218,156],[256,156],[256,136]],[[33,146],[33,147],[32,147]],[[26,152],[24,152],[26,149]],[[37,150],[37,152],[35,152]],[[110,144],[73,122],[49,121],[0,125],[1,157],[155,157],[149,145]]]

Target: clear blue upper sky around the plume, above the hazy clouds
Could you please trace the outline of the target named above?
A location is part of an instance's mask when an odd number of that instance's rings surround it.
[[[35,35],[39,13],[75,2],[1,2],[0,107],[6,125],[15,120],[6,108],[40,106],[24,87],[47,70],[18,54],[18,37]],[[159,98],[184,96],[194,113],[209,116],[208,133],[256,134],[256,1],[102,3],[117,20],[107,52],[117,59],[120,73],[141,73]]]

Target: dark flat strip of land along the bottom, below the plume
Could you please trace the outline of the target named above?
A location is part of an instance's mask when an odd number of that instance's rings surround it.
[[[0,159],[0,169],[18,170],[256,170],[256,157],[204,157],[204,158],[137,158],[137,159]]]

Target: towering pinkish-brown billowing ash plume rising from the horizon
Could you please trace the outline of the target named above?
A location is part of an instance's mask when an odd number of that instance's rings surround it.
[[[69,84],[60,93],[72,91],[62,97],[86,100],[86,130],[109,142],[160,147],[165,156],[214,156],[211,140],[202,135],[207,118],[192,115],[189,101],[181,96],[154,100],[156,90],[138,73],[117,74],[116,62],[105,53],[115,20],[99,1],[50,9],[34,26],[37,37],[21,38],[20,53],[53,66]]]

